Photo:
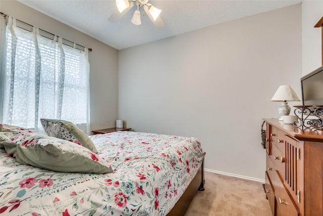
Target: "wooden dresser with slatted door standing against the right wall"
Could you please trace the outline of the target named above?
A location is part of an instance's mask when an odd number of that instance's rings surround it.
[[[273,215],[323,215],[323,131],[263,120],[265,192]]]

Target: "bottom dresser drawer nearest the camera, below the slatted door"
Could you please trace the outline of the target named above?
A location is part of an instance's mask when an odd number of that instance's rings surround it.
[[[278,175],[278,173],[277,173]],[[281,184],[275,188],[276,197],[276,214],[277,215],[288,215],[288,216],[299,216],[300,212],[297,205],[292,200],[290,194],[287,192],[286,187],[280,178]]]

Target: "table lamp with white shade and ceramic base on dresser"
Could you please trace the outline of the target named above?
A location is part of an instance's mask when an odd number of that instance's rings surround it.
[[[276,91],[271,101],[280,101],[282,104],[278,108],[280,118],[278,120],[283,120],[283,115],[289,115],[291,108],[288,106],[287,101],[300,101],[299,97],[295,93],[293,87],[290,85],[281,85]]]

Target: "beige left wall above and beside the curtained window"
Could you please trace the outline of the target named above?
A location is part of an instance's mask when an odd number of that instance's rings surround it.
[[[89,52],[91,130],[114,127],[118,118],[118,51],[17,1],[1,1],[0,11],[93,49]]]

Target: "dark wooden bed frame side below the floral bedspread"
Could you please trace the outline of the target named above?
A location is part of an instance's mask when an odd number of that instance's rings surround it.
[[[205,180],[204,180],[204,159],[203,159],[202,165],[199,168],[196,176],[189,184],[184,194],[181,196],[181,198],[177,201],[175,206],[166,216],[184,216],[196,192],[204,191],[204,185],[205,185]]]

